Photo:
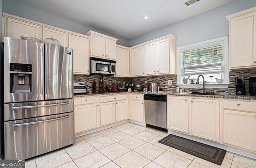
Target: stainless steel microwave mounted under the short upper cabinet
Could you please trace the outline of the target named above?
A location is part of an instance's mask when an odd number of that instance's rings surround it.
[[[116,61],[90,57],[90,74],[92,75],[115,75]]]

